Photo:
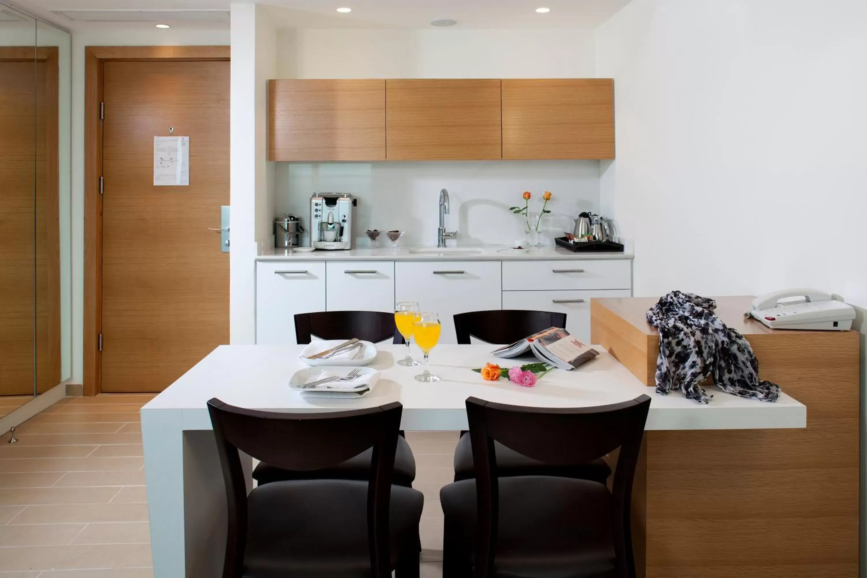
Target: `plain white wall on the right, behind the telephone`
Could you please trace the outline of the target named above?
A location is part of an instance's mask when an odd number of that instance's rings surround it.
[[[597,30],[636,295],[816,287],[867,333],[865,30],[863,0],[633,0]]]

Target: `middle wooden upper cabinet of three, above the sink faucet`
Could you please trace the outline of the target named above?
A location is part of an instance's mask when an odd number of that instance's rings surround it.
[[[386,81],[388,160],[502,158],[500,81]]]

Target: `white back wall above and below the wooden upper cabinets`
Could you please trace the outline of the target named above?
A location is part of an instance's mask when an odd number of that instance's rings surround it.
[[[591,30],[280,30],[280,78],[546,78],[595,76]],[[406,231],[402,243],[435,244],[440,189],[450,193],[447,228],[459,243],[510,244],[523,237],[507,211],[520,195],[551,191],[548,244],[599,207],[599,163],[382,162],[277,164],[277,211],[307,224],[313,192],[350,192],[367,229]],[[535,207],[536,201],[533,202]],[[537,208],[538,210],[538,208]],[[356,236],[357,237],[357,236]]]

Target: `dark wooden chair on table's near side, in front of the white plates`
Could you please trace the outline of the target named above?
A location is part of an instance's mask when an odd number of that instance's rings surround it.
[[[402,406],[260,412],[208,401],[228,502],[223,578],[418,578],[424,496],[393,485]],[[238,451],[290,470],[322,470],[372,448],[370,480],[274,482],[247,494]]]

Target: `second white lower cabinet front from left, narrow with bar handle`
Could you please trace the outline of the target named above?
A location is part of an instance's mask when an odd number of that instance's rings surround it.
[[[394,262],[326,263],[329,311],[394,312]]]

